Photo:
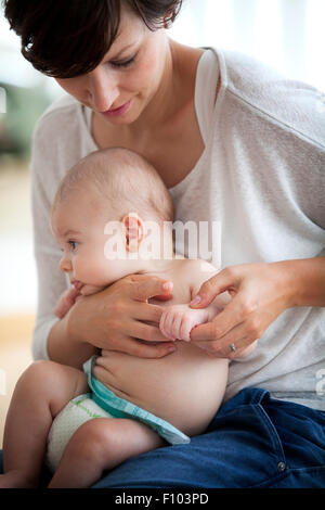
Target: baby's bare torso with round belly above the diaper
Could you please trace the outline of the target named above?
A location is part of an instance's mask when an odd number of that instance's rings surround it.
[[[159,306],[190,303],[187,271],[178,272],[180,276],[172,279],[172,299],[150,303]],[[174,353],[159,359],[103,350],[93,374],[119,397],[194,435],[206,429],[222,401],[227,360],[213,358],[187,342],[176,341],[176,346]]]

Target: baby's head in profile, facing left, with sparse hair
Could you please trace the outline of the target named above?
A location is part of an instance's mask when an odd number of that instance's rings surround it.
[[[51,228],[64,251],[60,268],[83,285],[82,294],[146,270],[153,257],[141,248],[148,234],[161,247],[159,257],[170,257],[172,221],[172,200],[155,168],[119,148],[93,152],[70,168],[51,209]],[[148,232],[147,225],[157,228]]]

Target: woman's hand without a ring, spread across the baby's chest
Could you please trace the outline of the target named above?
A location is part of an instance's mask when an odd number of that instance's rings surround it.
[[[168,280],[130,275],[96,294],[78,297],[66,316],[68,339],[140,358],[164,357],[176,347],[159,330],[164,307],[147,299],[170,299],[171,291]]]

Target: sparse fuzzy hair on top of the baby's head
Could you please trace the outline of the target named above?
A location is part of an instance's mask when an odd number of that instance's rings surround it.
[[[145,220],[173,221],[172,199],[162,179],[133,151],[109,148],[80,160],[61,181],[52,212],[86,182],[107,200],[107,207],[119,216],[118,220],[132,212]]]

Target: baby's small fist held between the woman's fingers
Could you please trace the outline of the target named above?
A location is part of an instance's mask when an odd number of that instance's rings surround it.
[[[193,309],[188,305],[171,305],[164,309],[159,328],[169,340],[183,340],[191,342],[191,330],[208,320],[208,311],[205,308]]]

